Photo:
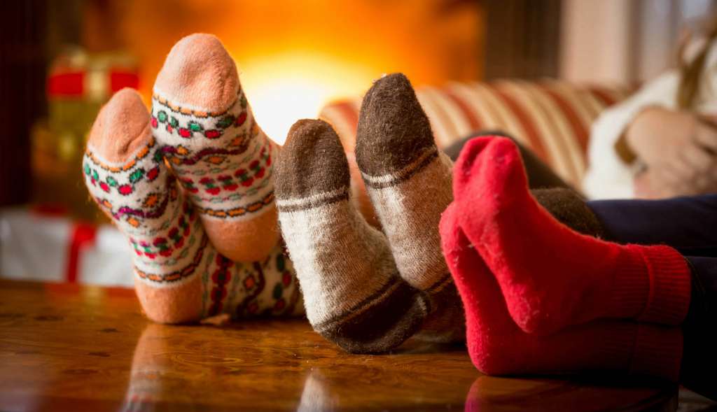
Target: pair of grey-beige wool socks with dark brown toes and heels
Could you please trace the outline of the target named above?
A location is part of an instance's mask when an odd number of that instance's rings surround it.
[[[462,340],[437,231],[452,163],[404,75],[366,93],[356,161],[383,233],[350,202],[348,163],[328,123],[300,120],[277,161],[280,226],[311,325],[354,353],[390,350],[419,331]]]

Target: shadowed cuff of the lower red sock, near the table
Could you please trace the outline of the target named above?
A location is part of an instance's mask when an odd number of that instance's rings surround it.
[[[628,372],[676,382],[680,376],[682,350],[683,336],[679,327],[638,324]]]

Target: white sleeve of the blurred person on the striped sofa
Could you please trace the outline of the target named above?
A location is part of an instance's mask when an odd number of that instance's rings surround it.
[[[588,146],[588,170],[583,191],[588,198],[634,197],[632,166],[617,155],[614,145],[635,116],[645,107],[675,109],[679,82],[676,70],[647,83],[635,95],[602,112],[592,125]]]

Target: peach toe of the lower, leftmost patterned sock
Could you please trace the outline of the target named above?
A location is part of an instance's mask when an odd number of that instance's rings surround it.
[[[88,144],[106,161],[124,161],[152,138],[149,120],[139,93],[120,90],[100,110]]]

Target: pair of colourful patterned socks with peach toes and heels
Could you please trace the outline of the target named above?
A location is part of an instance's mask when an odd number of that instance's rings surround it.
[[[83,159],[85,183],[130,238],[136,292],[149,318],[303,312],[277,241],[276,153],[255,123],[234,61],[208,34],[171,49],[151,113],[134,90],[121,90],[100,110]]]

